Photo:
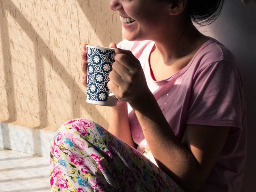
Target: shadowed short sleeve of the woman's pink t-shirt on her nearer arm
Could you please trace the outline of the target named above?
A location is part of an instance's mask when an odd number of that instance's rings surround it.
[[[242,129],[244,96],[239,71],[228,61],[212,63],[195,74],[186,124]]]

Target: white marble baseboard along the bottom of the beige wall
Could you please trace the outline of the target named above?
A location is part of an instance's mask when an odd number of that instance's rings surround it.
[[[0,122],[0,148],[49,157],[54,132]]]

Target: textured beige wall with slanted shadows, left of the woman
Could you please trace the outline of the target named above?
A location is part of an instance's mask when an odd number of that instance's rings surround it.
[[[87,104],[80,83],[81,45],[122,39],[108,3],[0,0],[0,122],[52,131],[79,117],[108,125],[108,108]]]

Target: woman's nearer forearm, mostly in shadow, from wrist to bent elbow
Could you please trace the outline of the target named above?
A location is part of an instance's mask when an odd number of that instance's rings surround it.
[[[200,174],[194,156],[176,138],[153,96],[141,100],[140,106],[134,111],[159,168],[182,187],[191,189],[190,184],[196,185],[194,180]]]

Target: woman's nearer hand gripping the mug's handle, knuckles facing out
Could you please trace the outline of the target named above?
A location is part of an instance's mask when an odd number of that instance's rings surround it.
[[[113,70],[109,74],[108,87],[118,100],[128,102],[136,108],[151,92],[148,89],[146,78],[140,61],[132,52],[116,48],[116,57]]]

